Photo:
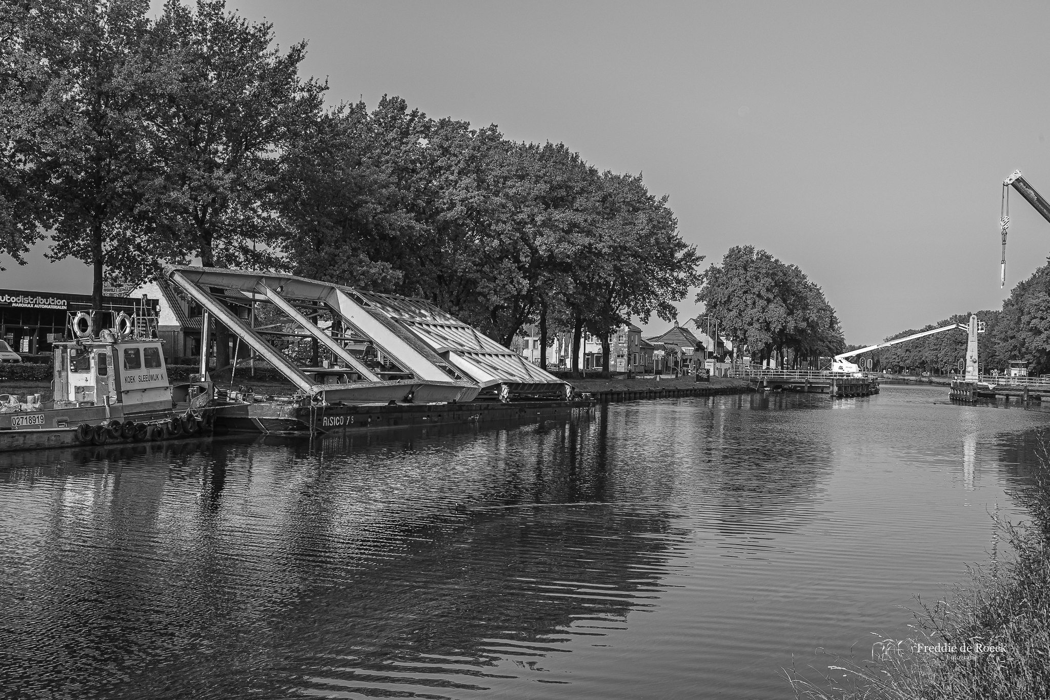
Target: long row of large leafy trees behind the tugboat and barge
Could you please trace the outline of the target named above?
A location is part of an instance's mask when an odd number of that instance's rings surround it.
[[[505,344],[534,322],[544,353],[586,331],[608,370],[613,328],[672,320],[698,283],[640,175],[396,97],[328,106],[304,41],[282,51],[223,0],[148,9],[0,5],[0,253],[24,262],[46,234],[91,266],[97,307],[106,279],[197,259],[424,298]]]

